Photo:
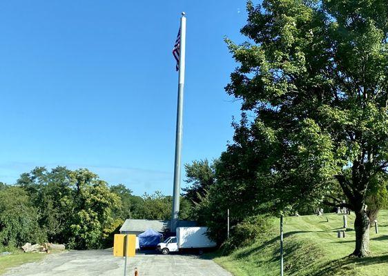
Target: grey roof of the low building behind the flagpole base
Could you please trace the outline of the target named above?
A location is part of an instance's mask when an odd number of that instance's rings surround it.
[[[178,221],[179,227],[197,226],[196,221]],[[120,228],[120,232],[144,232],[147,229],[153,229],[156,232],[164,232],[170,228],[170,221],[168,220],[151,220],[151,219],[126,219]]]

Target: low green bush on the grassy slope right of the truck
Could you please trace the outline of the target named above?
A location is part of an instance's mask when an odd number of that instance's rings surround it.
[[[273,217],[269,215],[247,217],[240,224],[231,228],[229,239],[222,244],[222,253],[229,253],[231,250],[250,246],[258,237],[269,233],[272,229]]]

